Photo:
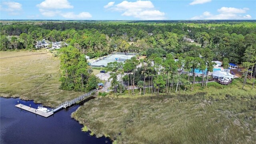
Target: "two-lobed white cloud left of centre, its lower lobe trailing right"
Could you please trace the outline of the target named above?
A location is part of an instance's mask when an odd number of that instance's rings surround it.
[[[62,12],[61,9],[74,8],[68,0],[45,0],[36,6],[39,8],[40,13],[46,17],[62,16],[67,19],[86,19],[92,17],[89,12],[81,12],[80,14]]]

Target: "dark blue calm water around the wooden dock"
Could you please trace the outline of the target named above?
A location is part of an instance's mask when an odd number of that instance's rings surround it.
[[[70,117],[79,106],[63,109],[44,118],[16,108],[21,104],[37,108],[32,100],[0,98],[1,144],[105,144],[108,138],[96,138],[89,132],[82,132],[82,125]],[[48,108],[49,109],[49,108]]]

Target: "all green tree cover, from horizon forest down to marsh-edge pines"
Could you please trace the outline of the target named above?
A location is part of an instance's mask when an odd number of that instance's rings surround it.
[[[203,71],[202,86],[207,86],[208,73],[215,65],[213,60],[223,61],[226,68],[229,62],[242,64],[244,84],[246,76],[249,74],[252,78],[255,73],[255,22],[3,21],[0,28],[0,50],[34,50],[36,42],[42,39],[66,42],[69,46],[59,52],[63,71],[60,88],[63,90],[88,91],[96,87],[98,79],[90,74],[92,70],[83,58],[84,54],[94,58],[113,51],[137,52],[147,56],[140,61],[132,58],[124,65],[117,62],[108,64],[106,68],[112,71],[115,93],[124,90],[122,82],[117,80],[117,75],[124,72],[128,75],[122,81],[133,87],[133,93],[135,84],[145,93],[145,81],[148,79],[148,86],[153,87],[151,93],[158,94],[170,93],[174,85],[176,92],[180,90],[180,84],[184,90],[188,88],[189,76],[185,78],[181,69],[185,73],[193,72],[191,90],[196,69]],[[140,64],[142,66],[137,68]],[[95,86],[90,87],[90,82]],[[130,90],[128,92],[130,94]]]

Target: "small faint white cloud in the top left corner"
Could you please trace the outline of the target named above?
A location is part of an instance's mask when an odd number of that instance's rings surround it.
[[[22,4],[18,2],[2,2],[1,11],[6,11],[10,15],[18,15],[22,11]]]

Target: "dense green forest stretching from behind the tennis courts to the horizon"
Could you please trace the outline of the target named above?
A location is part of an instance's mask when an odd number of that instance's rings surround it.
[[[164,53],[186,53],[200,46],[210,48],[216,60],[228,58],[241,64],[246,48],[256,43],[255,22],[185,22],[2,21],[0,50],[31,50],[42,39],[67,42],[91,58],[112,51],[146,55],[149,48]],[[189,38],[196,43],[189,43]]]

